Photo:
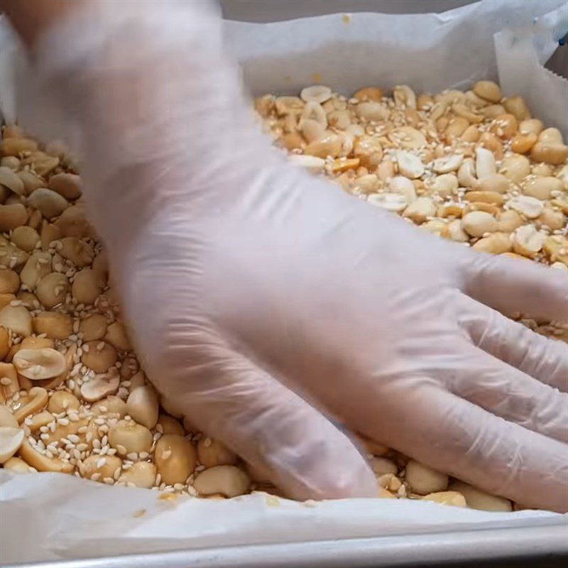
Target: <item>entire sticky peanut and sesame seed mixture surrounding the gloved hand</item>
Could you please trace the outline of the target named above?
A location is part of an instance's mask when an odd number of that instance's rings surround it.
[[[416,96],[328,87],[255,108],[290,160],[464,246],[568,267],[568,148],[497,84]],[[278,491],[168,414],[131,349],[67,148],[18,126],[0,143],[0,463],[207,498]],[[568,329],[522,320],[568,341]],[[522,508],[360,438],[378,496]]]

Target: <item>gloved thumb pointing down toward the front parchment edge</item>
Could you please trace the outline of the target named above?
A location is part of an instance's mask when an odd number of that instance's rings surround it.
[[[305,400],[238,354],[190,359],[180,379],[168,381],[178,407],[288,496],[376,496],[364,457]]]

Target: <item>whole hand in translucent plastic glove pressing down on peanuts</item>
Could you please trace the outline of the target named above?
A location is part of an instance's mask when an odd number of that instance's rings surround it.
[[[132,4],[77,9],[36,57],[83,133],[87,200],[160,393],[295,498],[376,494],[326,415],[568,510],[567,346],[499,313],[567,321],[567,275],[424,234],[288,165],[214,14]]]

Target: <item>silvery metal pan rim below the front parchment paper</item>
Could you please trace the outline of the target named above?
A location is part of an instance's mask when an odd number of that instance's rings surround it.
[[[19,564],[18,568],[426,568],[472,566],[481,562],[484,567],[498,562],[508,567],[513,554],[515,559],[523,559],[533,567],[561,565],[562,560],[568,559],[568,519],[534,528],[180,550]]]

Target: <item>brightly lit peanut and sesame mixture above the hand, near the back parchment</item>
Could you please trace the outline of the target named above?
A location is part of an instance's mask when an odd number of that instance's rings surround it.
[[[568,147],[498,84],[349,99],[314,86],[255,107],[293,163],[354,197],[477,251],[567,270]]]

